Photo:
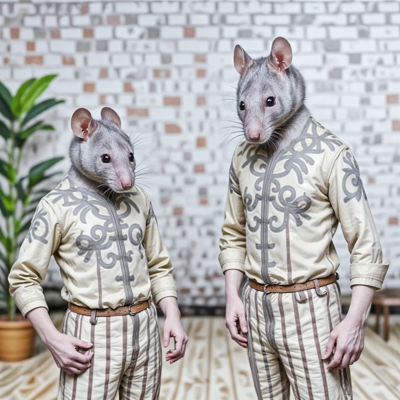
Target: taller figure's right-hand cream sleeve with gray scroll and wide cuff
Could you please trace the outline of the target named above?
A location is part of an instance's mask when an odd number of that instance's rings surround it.
[[[347,146],[343,148],[328,175],[328,196],[338,218],[350,256],[350,286],[382,287],[389,264],[382,261],[382,248],[376,232],[360,169]]]

